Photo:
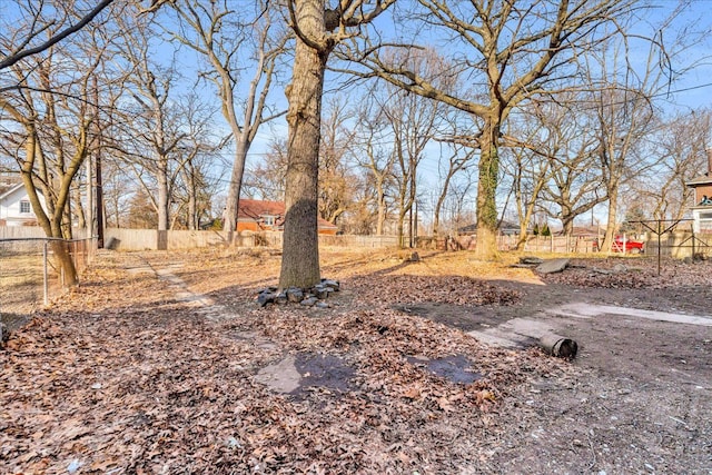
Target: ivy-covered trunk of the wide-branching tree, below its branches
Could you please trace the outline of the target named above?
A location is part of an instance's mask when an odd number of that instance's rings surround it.
[[[497,179],[500,127],[488,123],[479,139],[479,178],[477,181],[477,246],[478,259],[491,260],[497,255]]]

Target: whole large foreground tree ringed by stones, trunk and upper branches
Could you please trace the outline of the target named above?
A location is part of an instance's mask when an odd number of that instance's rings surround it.
[[[329,55],[358,28],[370,23],[394,0],[288,0],[297,37],[291,83],[287,87],[289,125],[286,217],[279,287],[310,287],[319,281],[317,238],[318,161],[322,95]]]

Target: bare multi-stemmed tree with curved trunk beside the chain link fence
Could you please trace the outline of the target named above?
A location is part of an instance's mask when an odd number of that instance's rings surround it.
[[[69,7],[59,8],[72,11]],[[38,18],[30,20],[40,21]],[[50,39],[61,37],[68,21],[70,16],[47,21],[42,34]],[[13,43],[17,40],[13,34],[3,37],[0,49],[29,51],[27,44]],[[3,83],[14,83],[0,95],[0,120],[8,132],[2,141],[6,150],[12,150],[39,225],[53,238],[72,236],[72,184],[90,152],[96,120],[90,78],[107,44],[91,34],[75,34],[71,40],[61,44],[55,41],[40,52],[22,55],[0,72]],[[42,207],[40,195],[47,208]],[[77,273],[67,249],[58,241],[52,246],[65,285],[76,285]]]

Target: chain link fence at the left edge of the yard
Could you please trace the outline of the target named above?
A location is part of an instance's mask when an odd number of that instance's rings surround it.
[[[63,293],[63,271],[53,246],[63,246],[81,273],[93,258],[95,239],[0,239],[0,318],[9,328]]]

